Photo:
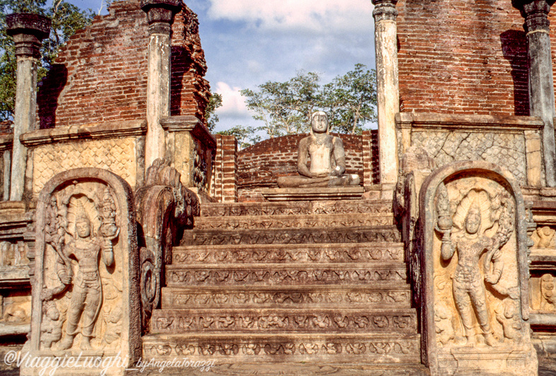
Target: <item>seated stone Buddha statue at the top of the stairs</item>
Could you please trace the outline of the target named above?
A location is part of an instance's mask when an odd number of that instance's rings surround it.
[[[340,138],[329,135],[328,116],[317,111],[311,116],[311,135],[300,141],[297,151],[299,176],[280,176],[280,188],[358,186],[357,174],[345,173],[345,152]],[[307,157],[311,159],[307,167]]]

